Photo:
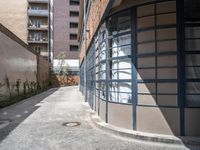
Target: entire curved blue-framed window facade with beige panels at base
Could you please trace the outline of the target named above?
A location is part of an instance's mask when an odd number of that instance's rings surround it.
[[[151,1],[112,14],[100,25],[84,61],[87,99],[106,122],[128,128],[129,123],[139,131],[198,134],[190,133],[197,127],[190,130],[189,122],[195,124],[200,111],[199,6],[198,0]]]

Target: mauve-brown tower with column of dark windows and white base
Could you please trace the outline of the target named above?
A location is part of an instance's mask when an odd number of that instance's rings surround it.
[[[58,71],[60,63],[59,55],[65,55],[65,63],[70,74],[77,75],[79,72],[78,53],[78,21],[79,0],[54,0],[54,71]]]

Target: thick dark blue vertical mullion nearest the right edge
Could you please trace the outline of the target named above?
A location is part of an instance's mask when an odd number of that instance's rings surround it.
[[[177,10],[177,62],[178,104],[180,108],[180,136],[185,135],[185,46],[184,46],[184,1],[176,1]]]

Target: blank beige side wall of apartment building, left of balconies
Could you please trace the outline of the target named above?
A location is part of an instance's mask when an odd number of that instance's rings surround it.
[[[27,43],[27,0],[0,0],[0,23]]]

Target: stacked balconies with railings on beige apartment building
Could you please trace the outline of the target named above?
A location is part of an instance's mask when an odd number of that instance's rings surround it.
[[[28,44],[42,56],[49,56],[49,1],[28,0]]]

